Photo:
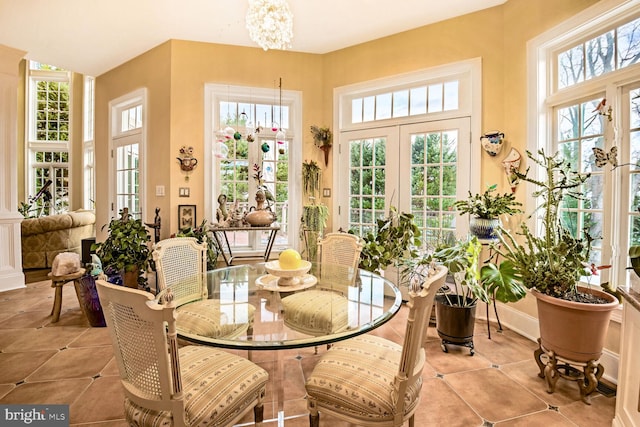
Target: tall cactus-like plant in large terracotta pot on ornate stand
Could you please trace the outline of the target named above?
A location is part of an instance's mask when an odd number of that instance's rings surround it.
[[[573,236],[562,222],[563,203],[569,197],[583,199],[580,190],[589,174],[572,171],[558,153],[546,155],[540,150],[537,156],[531,152],[527,152],[527,156],[541,168],[544,176],[539,180],[532,178],[528,175],[529,169],[524,174],[516,173],[521,180],[537,187],[533,194],[542,201],[537,210],[542,215],[543,234],[535,236],[523,224],[519,242],[503,230],[495,250],[502,257],[502,263],[517,272],[521,283],[536,297],[540,325],[536,361],[540,376],[547,378],[549,391],[553,391],[550,377],[554,374],[552,369],[544,369],[540,359],[543,353],[586,364],[585,369],[591,369],[585,374],[586,391],[581,387],[584,397],[597,385],[599,376],[596,378],[593,370],[602,354],[611,311],[618,306],[618,300],[611,294],[579,285],[581,277],[592,274],[589,255],[593,237],[587,230],[581,236]],[[549,376],[545,376],[545,372]],[[558,373],[555,375],[557,378]]]

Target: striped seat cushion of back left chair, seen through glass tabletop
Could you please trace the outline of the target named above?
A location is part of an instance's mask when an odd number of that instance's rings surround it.
[[[247,332],[256,308],[251,304],[229,305],[220,309],[217,300],[202,300],[176,309],[176,327],[180,332],[212,338],[235,338]]]

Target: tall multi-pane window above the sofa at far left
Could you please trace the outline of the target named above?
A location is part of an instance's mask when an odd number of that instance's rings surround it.
[[[70,73],[29,62],[27,188],[30,216],[69,208]]]

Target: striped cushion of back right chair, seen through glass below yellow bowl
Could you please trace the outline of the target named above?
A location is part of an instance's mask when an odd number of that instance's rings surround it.
[[[282,298],[284,323],[309,335],[346,330],[349,326],[349,301],[331,291],[311,290]]]

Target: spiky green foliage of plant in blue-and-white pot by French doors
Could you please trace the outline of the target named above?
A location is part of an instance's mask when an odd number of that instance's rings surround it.
[[[482,194],[471,194],[466,200],[458,200],[454,206],[460,214],[469,214],[482,219],[498,218],[502,214],[520,213],[522,203],[516,201],[513,193],[493,194],[497,185],[494,184]]]

